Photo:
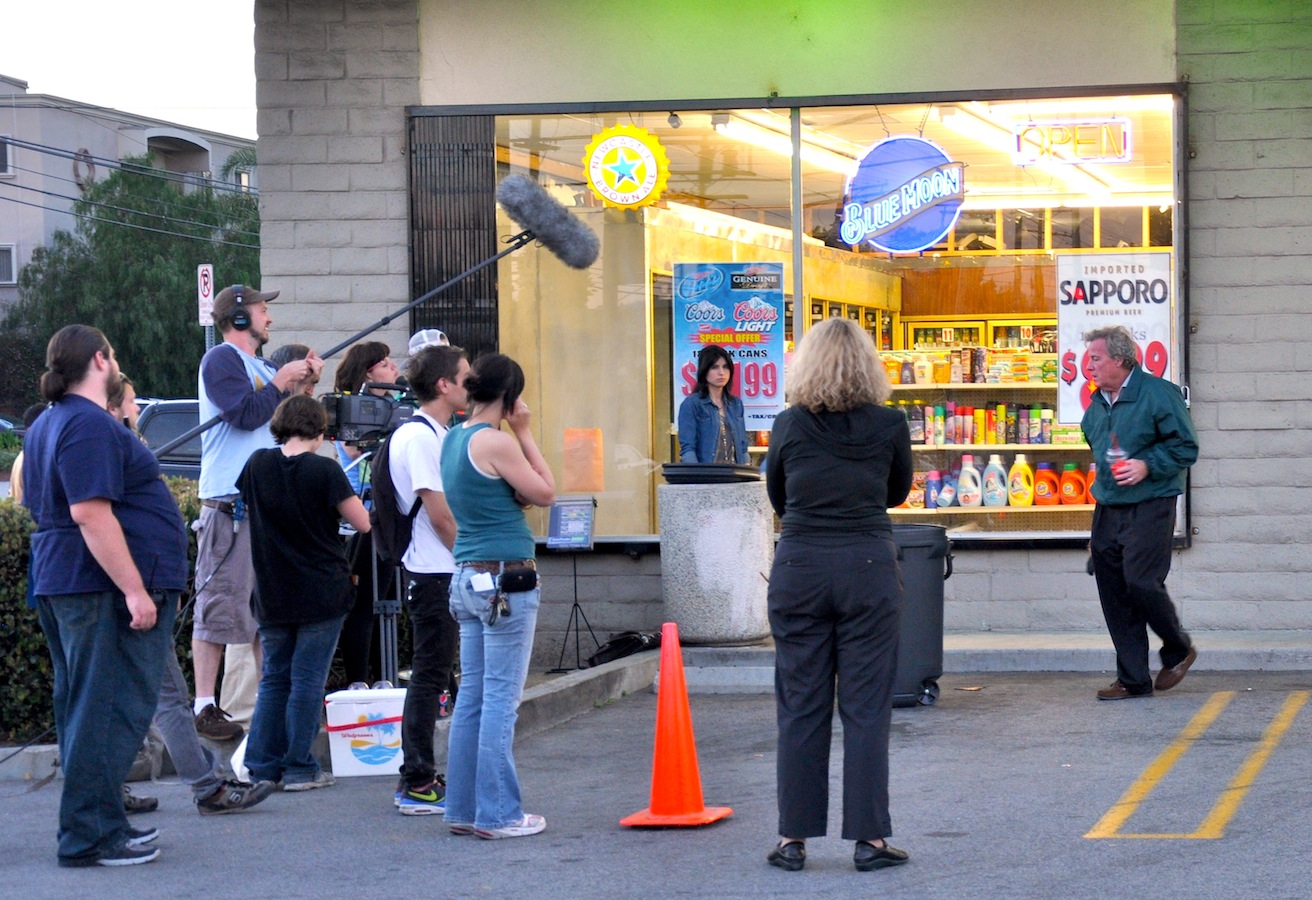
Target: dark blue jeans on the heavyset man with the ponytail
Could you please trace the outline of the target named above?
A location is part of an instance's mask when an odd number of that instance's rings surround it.
[[[96,857],[126,840],[123,781],[151,726],[165,655],[173,652],[177,592],[156,594],[150,631],[130,627],[117,590],[37,600],[64,770],[59,858]]]

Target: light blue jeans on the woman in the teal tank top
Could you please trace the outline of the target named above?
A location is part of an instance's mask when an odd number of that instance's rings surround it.
[[[492,592],[470,585],[475,572],[451,579],[451,615],[461,626],[461,701],[446,752],[446,821],[502,828],[523,817],[514,771],[514,723],[529,674],[542,596],[508,594],[510,614],[483,623]]]

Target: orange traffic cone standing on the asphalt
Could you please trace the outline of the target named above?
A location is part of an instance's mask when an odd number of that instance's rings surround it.
[[[660,698],[656,702],[656,757],[652,762],[652,804],[619,820],[621,825],[707,825],[732,816],[728,807],[702,804],[702,775],[697,769],[693,714],[684,684],[684,653],[678,626],[666,622],[660,636]]]

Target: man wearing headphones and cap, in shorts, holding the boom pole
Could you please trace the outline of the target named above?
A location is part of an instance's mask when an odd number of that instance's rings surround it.
[[[306,380],[318,380],[323,359],[311,352],[281,369],[256,356],[269,342],[269,300],[278,291],[232,285],[214,298],[214,325],[223,342],[201,361],[201,421],[219,424],[201,436],[201,521],[197,523],[195,610],[192,660],[195,665],[195,731],[211,740],[234,740],[243,729],[215,705],[219,660],[227,644],[252,644],[260,668],[251,594],[255,572],[251,534],[237,476],[252,453],[274,446],[269,420],[278,403]],[[258,673],[256,673],[258,684]]]

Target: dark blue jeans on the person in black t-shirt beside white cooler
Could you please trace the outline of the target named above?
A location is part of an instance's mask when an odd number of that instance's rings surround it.
[[[245,756],[252,781],[295,785],[319,777],[319,761],[311,748],[319,736],[324,684],[344,618],[260,626],[264,677]]]

